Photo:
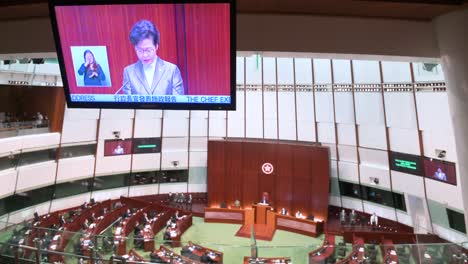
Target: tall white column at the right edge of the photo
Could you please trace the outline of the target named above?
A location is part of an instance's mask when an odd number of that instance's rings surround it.
[[[447,84],[468,227],[468,10],[442,15],[433,23]]]

